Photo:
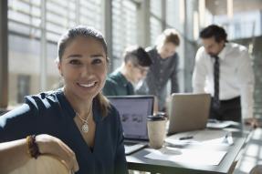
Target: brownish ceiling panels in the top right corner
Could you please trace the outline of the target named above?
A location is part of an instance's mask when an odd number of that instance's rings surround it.
[[[226,15],[227,0],[205,0],[205,7],[213,15]],[[233,13],[262,9],[262,0],[233,0]]]

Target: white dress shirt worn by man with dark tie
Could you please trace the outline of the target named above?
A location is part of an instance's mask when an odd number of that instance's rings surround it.
[[[226,44],[220,58],[219,98],[227,100],[241,97],[242,118],[253,117],[253,91],[255,86],[251,59],[245,46]],[[210,93],[214,96],[214,59],[207,55],[204,46],[195,56],[193,73],[194,93]]]

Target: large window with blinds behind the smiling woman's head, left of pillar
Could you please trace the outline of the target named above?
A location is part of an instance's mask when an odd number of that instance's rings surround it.
[[[43,74],[41,32],[46,32],[46,87],[58,84],[59,75],[54,62],[59,36],[68,27],[78,24],[102,28],[101,0],[9,0],[9,104],[22,102],[22,96],[40,92]],[[45,12],[45,13],[43,13]],[[45,17],[42,15],[46,14]],[[45,19],[45,21],[42,21]],[[43,22],[43,23],[42,23]],[[45,24],[45,25],[43,25]],[[24,75],[26,74],[26,77]],[[31,83],[26,83],[26,81]]]

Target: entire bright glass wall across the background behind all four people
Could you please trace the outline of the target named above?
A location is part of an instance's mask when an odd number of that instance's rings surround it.
[[[8,1],[9,104],[16,105],[22,96],[36,94],[43,87],[46,90],[58,87],[59,75],[54,62],[58,55],[57,42],[70,26],[89,25],[110,32],[110,70],[121,66],[126,46],[154,46],[162,30],[175,28],[181,36],[177,52],[182,92],[192,90],[194,55],[202,27],[221,24],[228,30],[229,38],[259,36],[262,30],[260,11],[235,14],[228,20],[225,15],[212,15],[204,0],[106,2],[105,6],[105,0]],[[105,11],[110,11],[111,16],[106,16]]]

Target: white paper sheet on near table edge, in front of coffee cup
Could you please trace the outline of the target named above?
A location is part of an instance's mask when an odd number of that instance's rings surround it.
[[[225,154],[226,151],[164,147],[159,150],[154,149],[144,157],[192,165],[219,165]]]

